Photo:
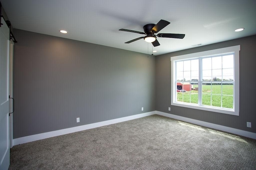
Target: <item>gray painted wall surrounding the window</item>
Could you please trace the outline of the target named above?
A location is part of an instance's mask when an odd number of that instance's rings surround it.
[[[227,115],[186,107],[171,106],[170,57],[212,49],[241,45],[240,51],[240,115]],[[256,35],[187,49],[156,57],[156,110],[218,125],[256,133]],[[171,107],[171,111],[168,111]],[[252,128],[246,127],[252,122]]]

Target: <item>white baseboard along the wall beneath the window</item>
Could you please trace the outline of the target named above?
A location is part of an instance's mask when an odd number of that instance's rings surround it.
[[[165,113],[165,112],[161,112],[161,111],[156,111],[156,114],[157,115],[162,115],[162,116],[165,116],[165,117],[170,117],[170,118],[177,119],[177,120],[181,120],[181,121],[186,121],[186,122],[189,122],[189,123],[194,123],[196,125],[210,127],[212,129],[217,129],[217,130],[220,130],[220,131],[225,131],[225,132],[233,133],[233,134],[236,134],[236,135],[241,135],[241,136],[244,136],[244,137],[249,137],[249,138],[252,138],[252,139],[256,139],[256,133],[243,131],[243,130],[235,129],[235,128],[232,128],[232,127],[217,125],[217,124],[214,124],[214,123],[208,123],[208,122],[200,121],[200,120],[196,120],[196,119],[190,119],[188,117],[182,117],[182,116],[173,115],[173,114]]]

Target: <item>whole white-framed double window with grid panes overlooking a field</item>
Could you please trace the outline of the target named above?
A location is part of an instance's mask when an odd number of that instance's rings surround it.
[[[239,115],[240,45],[171,57],[171,105]]]

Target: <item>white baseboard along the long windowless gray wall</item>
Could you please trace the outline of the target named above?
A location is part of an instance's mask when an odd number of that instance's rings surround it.
[[[71,128],[67,128],[67,129],[61,129],[61,130],[58,130],[58,131],[51,131],[51,132],[40,133],[40,134],[36,134],[36,135],[30,135],[30,136],[26,136],[26,137],[20,137],[20,138],[17,138],[17,139],[13,139],[12,140],[12,145],[15,146],[15,145],[19,145],[19,144],[22,144],[22,143],[28,143],[28,142],[38,141],[38,140],[41,140],[41,139],[46,139],[46,138],[49,138],[49,137],[55,137],[55,136],[59,136],[59,135],[65,135],[65,134],[68,134],[68,133],[84,131],[84,130],[87,130],[87,129],[92,129],[92,128],[96,128],[96,127],[111,125],[111,124],[114,124],[114,123],[120,123],[120,122],[123,122],[123,121],[132,120],[132,119],[138,119],[138,118],[141,118],[141,117],[146,117],[146,116],[154,115],[154,114],[156,114],[156,111],[150,111],[150,112],[141,113],[141,114],[138,114],[138,115],[121,117],[121,118],[118,118],[118,119],[112,119],[112,120],[92,123],[92,124],[88,124],[88,125],[71,127]]]

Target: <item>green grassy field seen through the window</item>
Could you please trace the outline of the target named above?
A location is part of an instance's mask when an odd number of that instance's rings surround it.
[[[193,84],[193,88],[195,89],[196,87],[198,85]],[[233,87],[234,85],[203,85],[202,104],[206,106],[233,108]],[[177,101],[198,104],[198,91],[177,92]]]

